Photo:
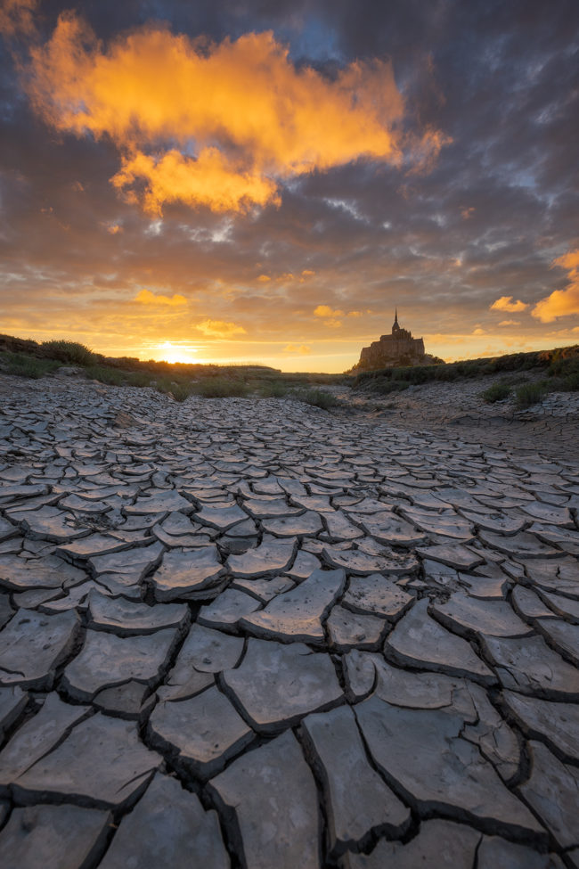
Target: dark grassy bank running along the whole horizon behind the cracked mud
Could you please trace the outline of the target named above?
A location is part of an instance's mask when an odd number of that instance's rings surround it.
[[[489,374],[503,377],[481,393],[485,402],[515,398],[518,408],[531,406],[548,392],[579,390],[579,345],[469,359],[443,365],[382,368],[355,375],[285,373],[267,365],[202,365],[134,357],[104,357],[68,340],[37,343],[0,335],[0,373],[38,378],[59,367],[74,366],[95,381],[111,386],[151,387],[183,401],[203,398],[298,398],[330,409],[338,399],[323,387],[345,386],[387,395],[423,383],[472,381]],[[530,378],[529,381],[527,379]]]

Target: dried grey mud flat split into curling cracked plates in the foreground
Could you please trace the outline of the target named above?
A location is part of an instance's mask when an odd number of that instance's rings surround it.
[[[570,455],[0,397],[5,869],[579,866]]]

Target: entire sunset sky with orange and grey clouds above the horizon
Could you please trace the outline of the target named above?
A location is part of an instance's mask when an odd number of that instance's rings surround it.
[[[0,0],[0,332],[339,372],[579,343],[577,0]]]

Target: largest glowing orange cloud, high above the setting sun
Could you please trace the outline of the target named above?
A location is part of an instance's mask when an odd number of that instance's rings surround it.
[[[31,49],[27,86],[53,127],[109,136],[121,158],[113,184],[155,214],[173,201],[275,204],[284,178],[401,160],[404,104],[389,61],[354,61],[325,78],[297,68],[272,32],[208,44],[146,27],[105,48],[65,12]],[[442,141],[428,131],[423,151]]]

